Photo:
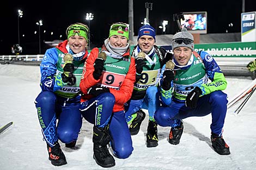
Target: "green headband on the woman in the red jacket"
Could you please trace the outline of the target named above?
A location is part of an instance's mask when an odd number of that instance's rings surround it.
[[[113,24],[110,27],[109,30],[109,36],[111,37],[112,35],[121,35],[121,36],[125,36],[127,40],[129,40],[129,26],[127,26],[126,24]]]

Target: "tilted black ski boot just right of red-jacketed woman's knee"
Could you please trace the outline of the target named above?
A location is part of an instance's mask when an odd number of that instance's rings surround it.
[[[139,133],[139,128],[141,128],[142,121],[144,120],[146,114],[141,109],[136,112],[137,117],[133,119],[130,124],[129,130],[131,135],[137,135]]]

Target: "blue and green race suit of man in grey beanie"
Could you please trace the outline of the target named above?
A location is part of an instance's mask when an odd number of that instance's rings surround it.
[[[186,117],[211,113],[211,131],[221,136],[228,103],[227,95],[222,92],[227,87],[227,81],[221,68],[214,58],[203,51],[200,56],[193,53],[186,66],[179,66],[175,59],[173,61],[173,87],[167,91],[161,89],[163,106],[155,112],[156,122],[163,127],[176,127]],[[187,94],[196,86],[202,90],[202,95],[198,99],[197,107],[190,109],[185,106],[185,100]]]

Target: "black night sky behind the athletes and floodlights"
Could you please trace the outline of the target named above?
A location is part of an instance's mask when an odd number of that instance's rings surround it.
[[[255,0],[245,0],[245,12],[256,11]],[[0,7],[0,55],[11,55],[11,46],[18,43],[18,9],[23,11],[23,17],[20,18],[20,45],[23,47],[22,54],[38,54],[39,36],[34,34],[38,31],[36,22],[43,20],[41,29],[41,40],[52,41],[66,39],[65,29],[69,24],[83,22],[87,12],[94,14],[94,20],[90,22],[92,46],[101,46],[108,36],[108,29],[111,23],[128,23],[128,0],[123,1],[7,1],[8,5],[1,4]],[[157,28],[157,34],[162,34],[158,27],[163,20],[168,20],[166,34],[175,34],[177,32],[176,23],[172,16],[178,12],[207,11],[208,12],[208,33],[229,33],[241,32],[241,0],[227,1],[160,1],[160,0],[136,0],[133,1],[133,23],[134,32],[142,26],[146,9],[145,2],[153,3],[153,10],[149,11],[149,22],[151,26]],[[206,4],[207,2],[207,4]],[[228,27],[233,23],[233,27]],[[42,31],[46,30],[43,34]],[[50,35],[53,32],[53,35]],[[22,35],[25,34],[25,37]],[[47,48],[41,43],[42,53]]]

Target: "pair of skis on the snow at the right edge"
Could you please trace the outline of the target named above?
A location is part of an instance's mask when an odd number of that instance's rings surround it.
[[[233,106],[236,102],[238,102],[243,97],[247,96],[245,100],[239,105],[239,107],[235,110],[235,114],[239,114],[243,106],[247,103],[249,98],[251,98],[253,92],[256,90],[256,79],[252,81],[251,84],[246,86],[240,93],[238,93],[236,96],[234,96],[231,100],[229,100],[229,103],[227,104],[228,109]]]

